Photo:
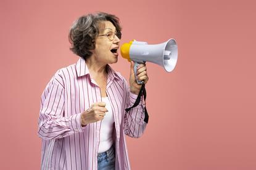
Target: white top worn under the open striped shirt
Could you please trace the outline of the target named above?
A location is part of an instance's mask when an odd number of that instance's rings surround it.
[[[105,102],[105,107],[109,112],[105,112],[105,116],[101,122],[101,131],[99,137],[99,150],[98,153],[106,152],[113,144],[112,131],[114,129],[114,114],[112,112],[109,98],[102,98]]]

